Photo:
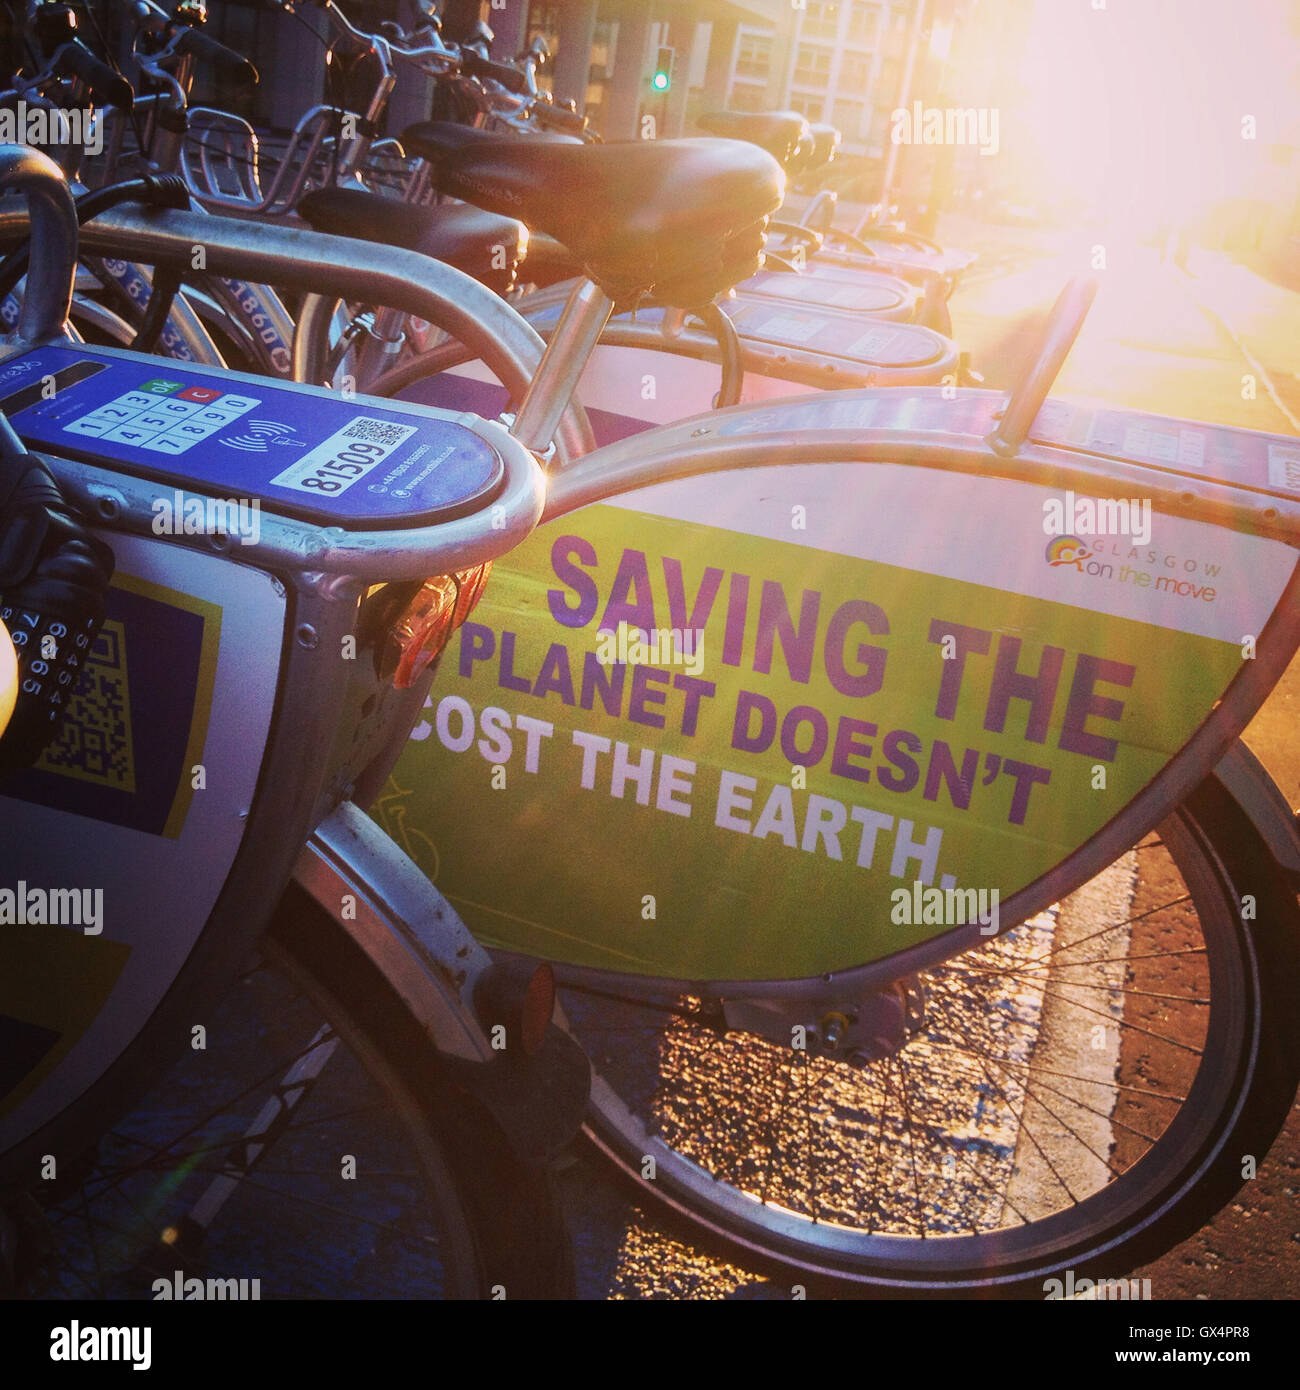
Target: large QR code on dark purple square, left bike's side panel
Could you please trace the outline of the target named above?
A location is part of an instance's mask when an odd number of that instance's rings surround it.
[[[125,638],[121,621],[104,623],[76,694],[68,701],[58,738],[36,763],[43,771],[135,791]]]

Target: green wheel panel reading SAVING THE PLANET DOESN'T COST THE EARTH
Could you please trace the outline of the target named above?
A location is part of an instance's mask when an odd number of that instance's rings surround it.
[[[922,505],[932,484],[911,473]],[[1046,495],[983,488],[980,506],[1021,517]],[[901,542],[845,543],[836,520],[840,539],[811,543],[770,491],[752,528],[734,506],[727,525],[692,520],[679,488],[667,510],[588,507],[498,564],[375,808],[484,941],[695,980],[877,959],[1058,865],[1242,662],[1207,634],[1249,630],[1240,553],[1179,559],[1194,596],[1160,582],[1194,535],[1167,530],[1148,560],[1039,528],[1008,570],[979,550],[1005,537],[918,525],[913,567],[845,553]],[[827,482],[823,510],[836,496]],[[950,571],[997,584],[927,573],[944,545],[965,552]],[[1122,616],[1144,607],[1158,620]]]

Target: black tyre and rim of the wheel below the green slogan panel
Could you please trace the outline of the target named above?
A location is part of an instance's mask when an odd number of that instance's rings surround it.
[[[698,1148],[694,1154],[680,1151],[679,1145],[691,1148],[699,1136],[684,1131],[672,1131],[667,1138],[662,1134],[652,1136],[645,1116],[637,1111],[640,1102],[620,1094],[621,1079],[610,1084],[608,1077],[598,1079],[594,1074],[587,1137],[633,1184],[641,1200],[653,1204],[660,1212],[669,1212],[670,1218],[690,1226],[697,1236],[713,1238],[720,1251],[740,1251],[751,1262],[756,1259],[770,1268],[776,1277],[797,1280],[830,1295],[1043,1298],[1050,1280],[1066,1270],[1072,1270],[1076,1280],[1114,1279],[1157,1258],[1199,1230],[1230,1200],[1246,1180],[1247,1156],[1262,1163],[1296,1094],[1297,1044],[1293,1019],[1300,998],[1300,913],[1294,891],[1228,790],[1211,777],[1165,823],[1162,831],[1176,845],[1180,870],[1187,870],[1185,881],[1193,887],[1197,922],[1207,922],[1208,915],[1211,923],[1205,937],[1207,967],[1214,965],[1219,977],[1212,981],[1218,1004],[1211,1001],[1210,1015],[1214,1017],[1217,1013],[1218,1017],[1212,1026],[1205,1023],[1203,1059],[1197,1063],[1192,1087],[1160,1134],[1154,1136],[1147,1152],[1139,1155],[1114,1182],[1104,1183],[1082,1202],[1065,1209],[1064,1215],[1053,1212],[1023,1223],[1022,1232],[1033,1230],[1029,1238],[1023,1234],[1016,1237],[1015,1227],[984,1236],[958,1236],[941,1229],[926,1232],[922,1223],[909,1238],[897,1233],[876,1233],[872,1238],[852,1240],[837,1229],[838,1223],[819,1223],[816,1209],[811,1215],[801,1211],[791,1219],[790,1194],[783,1194],[784,1205],[777,1204],[769,1194],[752,1191],[752,1182],[748,1191],[747,1184],[729,1182],[726,1173],[719,1173],[720,1163],[710,1166],[701,1161]],[[1155,847],[1150,841],[1151,837],[1144,841],[1148,848],[1158,848],[1160,841]],[[1147,877],[1160,877],[1158,873],[1144,872]],[[1246,894],[1256,899],[1256,920],[1242,920],[1239,905]],[[1169,906],[1143,903],[1141,924],[1130,926],[1129,940],[1135,938],[1135,931],[1140,940],[1150,940],[1169,930],[1186,930],[1176,923],[1171,926],[1162,922],[1161,913],[1172,910]],[[1185,909],[1182,915],[1186,916]],[[983,955],[989,949],[983,948],[972,955]],[[1182,949],[1168,952],[1169,963],[1161,960],[1155,966],[1143,965],[1139,973],[1173,970],[1172,956]],[[1217,954],[1217,965],[1210,958],[1211,949]],[[1137,959],[1140,956],[1133,955],[1125,969],[1132,970]],[[580,1008],[578,998],[573,990],[562,990],[562,1002],[570,1016]],[[1122,1005],[1123,1009],[1132,1006],[1132,1001]],[[1143,1006],[1147,1006],[1146,999],[1141,1001],[1139,1013]],[[1160,1006],[1168,1011],[1168,1004]],[[647,1024],[647,1034],[638,1038],[631,1033],[628,1016],[628,1009],[624,1008],[621,1015],[606,1017],[610,1031],[605,1034],[590,1019],[573,1029],[596,1069],[616,1052],[645,1056],[649,1049],[653,1056],[655,1047],[663,1048],[666,1029],[655,1041],[649,1036],[651,1026]],[[1225,1023],[1226,1027],[1222,1026]],[[619,1031],[613,1033],[615,1029]],[[1140,1033],[1140,1029],[1141,1023],[1135,1022],[1135,1031]],[[1235,1036],[1230,1069],[1224,1066],[1225,1054],[1215,1051],[1221,1042],[1233,1041],[1228,1037],[1229,1033]],[[1150,1041],[1146,1045],[1151,1051],[1157,1049]],[[772,1044],[752,1040],[741,1042],[741,1047],[748,1047],[751,1052],[776,1051]],[[719,1073],[704,1065],[702,1049],[679,1051],[684,1070],[694,1073],[692,1083],[697,1087],[710,1088],[719,1084]],[[898,1056],[907,1058],[908,1048],[904,1047]],[[1211,1063],[1215,1063],[1218,1073],[1214,1077],[1207,1073]],[[1172,1099],[1143,1097],[1143,1088],[1130,1084],[1137,1077],[1139,1065],[1141,1062],[1136,1054],[1126,1063],[1116,1062],[1114,1084],[1125,1091],[1125,1123],[1137,1123],[1136,1118],[1143,1106],[1148,1113],[1155,1113],[1160,1099]],[[1146,1065],[1151,1065],[1150,1059]],[[1032,1063],[1026,1066],[1026,1073],[1030,1068]],[[1155,1069],[1160,1070],[1158,1066]],[[745,1080],[752,1083],[756,1065],[748,1072],[738,1068],[738,1074],[741,1084]],[[1121,1076],[1125,1076],[1123,1083],[1119,1081]],[[1210,1084],[1211,1080],[1214,1084]],[[669,1087],[673,1084],[676,1083],[672,1080],[667,1083]],[[626,1084],[623,1088],[626,1090]],[[663,1090],[660,1086],[660,1091]],[[1025,1090],[1029,1095],[1027,1081]],[[1064,1109],[1064,1104],[1055,1099],[1055,1093],[1048,1090],[1047,1094],[1053,1095],[1051,1104]],[[745,1095],[751,1111],[762,1109],[761,1091],[745,1090]],[[710,1099],[716,1104],[715,1097]],[[667,1101],[663,1104],[669,1105]],[[1027,1104],[1026,1099],[1022,1113]],[[1034,1105],[1043,1105],[1040,1095],[1034,1097]],[[829,1111],[823,1112],[822,1118]],[[866,1125],[870,1118],[859,1115],[840,1119],[847,1129],[854,1123]],[[731,1112],[729,1123],[742,1133],[754,1133],[754,1122],[747,1115]],[[883,1115],[877,1123],[883,1136]],[[770,1133],[767,1141],[770,1151],[780,1152],[780,1145]],[[1107,1163],[1121,1151],[1121,1141],[1130,1148],[1136,1144],[1129,1134],[1121,1133],[1105,1155]],[[809,1138],[809,1147],[812,1143]],[[1019,1145],[1015,1155],[1014,1162],[1019,1166]],[[656,1159],[652,1177],[647,1177],[647,1156]],[[780,1152],[780,1158],[787,1168],[794,1162],[784,1152]],[[894,1165],[895,1177],[902,1166]],[[936,1211],[934,1186],[926,1188],[925,1194],[929,1204],[927,1219],[941,1216],[943,1212]],[[922,1195],[922,1179],[918,1175],[918,1212]],[[879,1211],[880,1198],[876,1201]],[[907,1240],[911,1248],[904,1250],[895,1244],[890,1250],[887,1243],[891,1238]]]

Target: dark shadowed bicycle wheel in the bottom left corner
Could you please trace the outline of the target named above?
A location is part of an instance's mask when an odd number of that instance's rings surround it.
[[[546,1175],[449,1090],[400,1001],[327,923],[291,890],[207,1047],[76,1175],[11,1207],[24,1294],[570,1291]]]

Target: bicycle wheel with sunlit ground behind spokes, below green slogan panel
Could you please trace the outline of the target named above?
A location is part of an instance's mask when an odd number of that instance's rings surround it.
[[[1296,1091],[1296,947],[1294,892],[1211,778],[913,981],[923,1022],[861,1069],[701,998],[562,1002],[588,1133],[647,1198],[827,1291],[1041,1298],[1155,1258],[1262,1162]]]

